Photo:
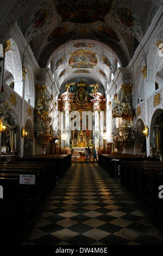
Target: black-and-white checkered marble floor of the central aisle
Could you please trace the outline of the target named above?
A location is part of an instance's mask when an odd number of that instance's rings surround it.
[[[72,163],[31,245],[163,245],[163,235],[97,163]]]

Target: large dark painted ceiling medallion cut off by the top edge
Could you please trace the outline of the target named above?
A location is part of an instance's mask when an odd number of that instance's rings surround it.
[[[57,13],[62,21],[72,23],[104,22],[104,17],[109,13],[112,0],[54,0]]]

